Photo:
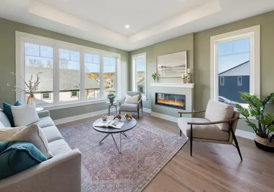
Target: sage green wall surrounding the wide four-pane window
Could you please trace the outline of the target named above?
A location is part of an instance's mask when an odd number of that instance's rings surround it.
[[[52,39],[57,39],[61,41],[66,41],[69,43],[74,43],[78,45],[83,45],[87,47],[93,47],[96,49],[101,49],[105,51],[110,51],[114,53],[121,54],[121,69],[123,69],[122,74],[127,74],[129,71],[129,52],[109,47],[106,45],[101,45],[98,43],[93,43],[83,39],[63,35],[60,33],[48,31],[45,29],[25,25],[22,23],[6,20],[0,18],[0,101],[7,103],[15,102],[15,93],[11,92],[11,88],[6,86],[6,84],[15,85],[15,77],[9,72],[15,72],[15,31],[21,31],[25,33],[30,33],[34,35],[39,35],[43,37],[48,37]],[[125,95],[129,88],[128,84],[129,76],[121,76],[122,86],[122,96]],[[58,109],[50,111],[50,115],[53,119],[60,119],[65,117],[70,117],[74,115],[80,115],[88,112],[94,112],[97,110],[107,109],[108,105],[106,103],[98,103],[92,105],[78,106],[72,108]]]

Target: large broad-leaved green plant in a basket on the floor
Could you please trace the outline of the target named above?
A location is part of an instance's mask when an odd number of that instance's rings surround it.
[[[274,131],[274,114],[264,112],[265,107],[274,101],[274,93],[267,96],[265,100],[249,93],[240,94],[241,99],[249,104],[249,110],[240,104],[236,104],[236,108],[247,119],[247,125],[255,131],[256,146],[264,151],[274,152],[273,137],[270,137],[270,133]],[[255,117],[257,123],[250,121],[250,116]]]

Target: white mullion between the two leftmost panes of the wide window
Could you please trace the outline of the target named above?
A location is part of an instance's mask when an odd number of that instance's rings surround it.
[[[59,47],[53,47],[53,102],[59,103]]]

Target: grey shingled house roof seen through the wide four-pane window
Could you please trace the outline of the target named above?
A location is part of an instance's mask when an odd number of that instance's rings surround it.
[[[40,84],[37,92],[53,91],[53,82],[49,81],[53,79],[53,69],[44,67],[25,67],[25,80],[26,82],[33,75],[33,80],[36,79],[36,74],[39,74]],[[79,90],[80,88],[80,71],[72,69],[60,69],[60,91],[64,90]],[[79,83],[78,83],[79,82]],[[94,79],[88,79],[85,76],[85,90],[86,89],[100,89],[100,83],[98,84]]]

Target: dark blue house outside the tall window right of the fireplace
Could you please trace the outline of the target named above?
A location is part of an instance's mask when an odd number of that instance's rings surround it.
[[[219,96],[245,103],[240,92],[250,93],[249,61],[219,74]]]

